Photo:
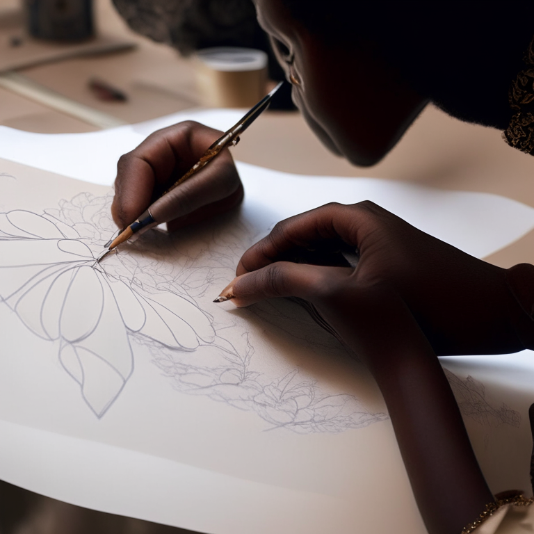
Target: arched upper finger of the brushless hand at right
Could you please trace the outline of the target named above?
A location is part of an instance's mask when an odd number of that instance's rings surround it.
[[[351,205],[325,204],[278,223],[268,236],[243,254],[236,274],[250,273],[271,264],[293,248],[316,246],[331,239],[341,239],[362,252],[366,236],[379,227],[385,227],[384,223],[388,224],[385,219],[388,218],[403,223],[400,218],[369,201]]]

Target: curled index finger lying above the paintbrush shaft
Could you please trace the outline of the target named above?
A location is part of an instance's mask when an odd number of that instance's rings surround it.
[[[163,192],[163,184],[174,183],[184,175],[221,134],[197,122],[181,122],[152,133],[136,149],[121,156],[112,204],[115,223],[121,227],[130,224],[147,209],[154,188]],[[220,154],[219,158],[227,164],[232,156]],[[235,176],[230,179],[235,180]]]

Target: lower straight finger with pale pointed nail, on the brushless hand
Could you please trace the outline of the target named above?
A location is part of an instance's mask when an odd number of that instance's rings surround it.
[[[249,306],[275,297],[298,297],[313,302],[334,293],[351,273],[351,268],[277,261],[234,278],[223,289],[216,302],[232,300],[237,307]]]

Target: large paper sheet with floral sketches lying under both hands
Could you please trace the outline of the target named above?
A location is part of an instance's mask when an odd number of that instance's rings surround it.
[[[0,138],[28,139],[34,165],[80,177],[87,170],[75,156],[86,136],[93,147],[113,140],[122,153],[135,135],[123,133],[3,129]],[[42,152],[28,149],[33,136]],[[22,159],[16,147],[11,159]],[[111,152],[95,165],[107,183]],[[113,231],[108,188],[0,163],[0,478],[207,533],[424,532],[369,373],[291,303],[228,311],[211,300],[258,235],[330,200],[374,200],[478,256],[528,232],[533,209],[495,195],[241,163],[238,216],[143,236],[97,272],[92,257]],[[530,373],[524,355],[512,361]],[[486,362],[447,366],[492,489],[527,487],[529,390],[489,380]],[[500,465],[503,456],[514,461]]]

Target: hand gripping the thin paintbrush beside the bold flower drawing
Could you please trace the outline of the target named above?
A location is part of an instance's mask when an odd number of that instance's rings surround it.
[[[159,195],[184,175],[223,132],[199,124],[180,122],[155,131],[117,165],[113,220],[124,228],[136,220]],[[211,161],[168,195],[174,209],[170,230],[199,223],[236,207],[243,200],[243,185],[229,150]]]

